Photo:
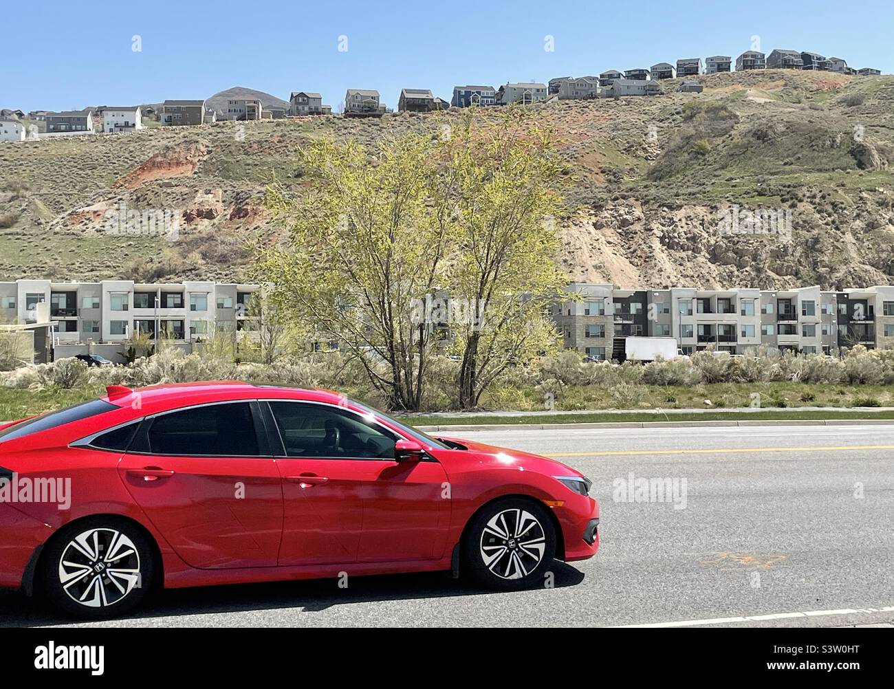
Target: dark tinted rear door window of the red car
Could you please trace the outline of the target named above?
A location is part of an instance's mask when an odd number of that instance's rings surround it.
[[[257,457],[248,402],[215,404],[156,416],[148,431],[154,455]]]

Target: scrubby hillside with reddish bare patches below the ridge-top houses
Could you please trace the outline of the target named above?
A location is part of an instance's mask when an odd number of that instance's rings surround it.
[[[569,278],[625,288],[894,283],[894,77],[702,80],[702,94],[534,106],[571,164],[559,256]],[[276,234],[259,207],[266,183],[301,183],[302,142],[372,145],[436,126],[430,114],[325,116],[0,146],[0,280],[238,280],[252,242]],[[179,238],[106,233],[105,211],[121,203],[172,209]],[[721,234],[729,205],[790,209],[790,241]]]

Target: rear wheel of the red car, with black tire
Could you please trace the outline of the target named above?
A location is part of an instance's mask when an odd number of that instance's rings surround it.
[[[63,527],[40,558],[40,582],[56,609],[81,619],[113,618],[146,597],[155,550],[138,526],[88,517]]]

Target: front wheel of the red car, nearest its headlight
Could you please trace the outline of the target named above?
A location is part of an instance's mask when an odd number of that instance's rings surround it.
[[[555,557],[556,535],[544,506],[507,498],[472,517],[462,545],[468,570],[479,584],[518,591],[543,584]]]

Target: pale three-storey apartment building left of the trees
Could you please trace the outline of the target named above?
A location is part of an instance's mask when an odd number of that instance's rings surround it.
[[[0,322],[36,323],[38,304],[49,304],[60,344],[121,344],[140,332],[197,340],[242,330],[257,290],[257,285],[198,281],[0,282]]]

